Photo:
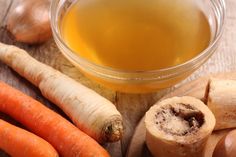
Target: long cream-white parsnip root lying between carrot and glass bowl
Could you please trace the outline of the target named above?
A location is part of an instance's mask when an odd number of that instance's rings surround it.
[[[122,137],[121,114],[110,101],[93,90],[15,46],[0,43],[0,60],[39,87],[78,128],[98,142],[114,142]]]

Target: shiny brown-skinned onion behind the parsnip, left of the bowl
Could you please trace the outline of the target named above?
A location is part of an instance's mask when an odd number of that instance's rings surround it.
[[[17,41],[39,44],[51,36],[50,0],[22,0],[10,12],[7,29]]]

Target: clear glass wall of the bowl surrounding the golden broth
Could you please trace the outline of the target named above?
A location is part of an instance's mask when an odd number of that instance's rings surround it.
[[[224,0],[198,0],[206,8],[206,16],[211,27],[211,41],[209,46],[191,60],[170,68],[151,71],[122,71],[110,67],[100,66],[74,53],[63,41],[59,22],[66,10],[76,0],[53,0],[51,4],[51,27],[55,42],[62,54],[80,71],[98,83],[125,93],[145,93],[158,91],[175,85],[188,77],[215,52],[219,45],[225,20]]]

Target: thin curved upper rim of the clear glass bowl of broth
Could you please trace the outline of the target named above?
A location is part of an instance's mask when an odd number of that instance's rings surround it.
[[[57,0],[60,1],[60,0]],[[55,1],[51,2],[51,6],[50,6],[50,23],[51,23],[51,28],[52,28],[52,32],[53,32],[53,36],[54,39],[56,41],[58,41],[61,46],[63,47],[63,49],[66,49],[68,52],[62,52],[64,55],[67,55],[70,57],[70,59],[72,59],[74,62],[80,64],[82,63],[83,65],[87,65],[89,67],[95,68],[95,69],[100,69],[102,71],[106,71],[108,73],[119,73],[119,74],[159,74],[159,73],[166,73],[168,71],[180,71],[181,69],[185,69],[185,67],[189,67],[192,65],[193,62],[198,61],[199,59],[201,59],[204,56],[207,56],[207,54],[209,53],[209,51],[214,48],[216,46],[216,44],[218,43],[218,41],[220,40],[224,27],[225,27],[225,16],[226,16],[226,2],[225,0],[220,0],[219,1],[221,3],[221,11],[222,11],[222,20],[221,20],[221,27],[220,29],[217,31],[216,30],[216,34],[213,38],[213,40],[210,42],[210,44],[203,50],[201,51],[198,55],[196,55],[195,57],[191,58],[190,60],[175,65],[175,66],[171,66],[171,67],[167,67],[167,68],[163,68],[163,69],[157,69],[157,70],[121,70],[121,69],[116,69],[116,68],[112,68],[112,67],[108,67],[108,66],[103,66],[103,65],[99,65],[96,64],[94,62],[91,62],[89,60],[87,60],[86,58],[81,57],[79,54],[75,53],[62,39],[60,33],[59,33],[59,28],[56,25],[57,21],[57,7],[55,5]],[[213,3],[212,0],[210,3]],[[56,9],[54,8],[56,7]],[[55,9],[55,10],[54,10]],[[56,42],[57,43],[57,42]],[[58,46],[58,44],[57,44]],[[66,56],[66,57],[67,57]],[[185,70],[183,70],[185,71]]]

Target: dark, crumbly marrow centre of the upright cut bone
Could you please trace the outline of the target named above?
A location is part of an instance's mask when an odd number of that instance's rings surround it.
[[[189,104],[166,105],[157,110],[155,123],[160,131],[176,136],[196,133],[204,123],[204,115]]]

